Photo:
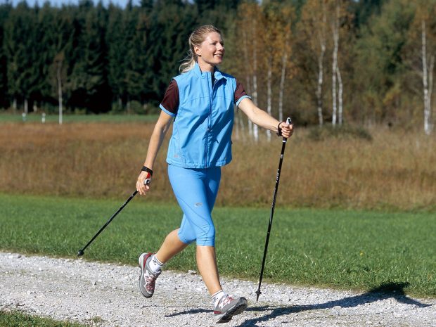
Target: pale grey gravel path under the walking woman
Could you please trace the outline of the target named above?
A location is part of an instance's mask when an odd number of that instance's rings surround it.
[[[0,309],[19,309],[89,326],[214,325],[210,297],[195,272],[164,271],[151,299],[138,288],[138,267],[0,252]],[[225,290],[248,299],[248,309],[221,326],[436,327],[436,299],[401,291],[352,293],[224,279]]]

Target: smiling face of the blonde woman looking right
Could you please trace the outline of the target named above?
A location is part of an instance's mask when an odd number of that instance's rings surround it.
[[[215,65],[222,63],[224,57],[224,41],[221,34],[210,32],[206,34],[205,40],[200,46],[194,47],[198,57],[198,65],[202,70],[210,70]]]

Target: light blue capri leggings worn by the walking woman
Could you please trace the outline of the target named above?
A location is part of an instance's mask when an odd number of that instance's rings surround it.
[[[168,165],[168,177],[184,212],[178,233],[180,241],[214,246],[215,227],[211,213],[217,198],[221,167],[189,169]]]

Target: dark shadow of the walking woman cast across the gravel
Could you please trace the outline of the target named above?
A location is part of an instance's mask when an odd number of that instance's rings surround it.
[[[367,304],[371,302],[376,302],[380,300],[394,299],[397,302],[414,305],[416,307],[430,307],[431,304],[421,303],[419,301],[413,300],[406,296],[404,293],[404,288],[409,286],[409,283],[385,283],[377,288],[368,290],[368,292],[356,295],[352,297],[345,297],[340,300],[328,301],[326,303],[319,304],[309,304],[309,305],[297,305],[292,307],[248,307],[249,312],[263,312],[271,311],[271,313],[264,316],[257,317],[255,319],[248,319],[244,321],[241,325],[236,327],[256,327],[256,323],[269,321],[278,316],[284,316],[286,314],[297,314],[299,312],[309,311],[309,310],[322,310],[322,309],[333,309],[333,307],[350,308],[357,307],[361,304]],[[207,309],[191,309],[184,312],[177,312],[175,314],[169,314],[166,317],[180,316],[182,314],[198,314],[212,312],[212,310]]]

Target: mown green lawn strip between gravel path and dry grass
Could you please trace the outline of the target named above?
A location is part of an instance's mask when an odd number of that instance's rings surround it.
[[[123,202],[0,195],[0,249],[75,257]],[[84,258],[136,265],[180,217],[177,206],[136,197]],[[435,219],[428,212],[277,208],[264,281],[354,290],[406,283],[409,295],[436,297]],[[269,209],[217,207],[214,222],[222,275],[257,280]],[[196,269],[194,247],[166,267]]]

